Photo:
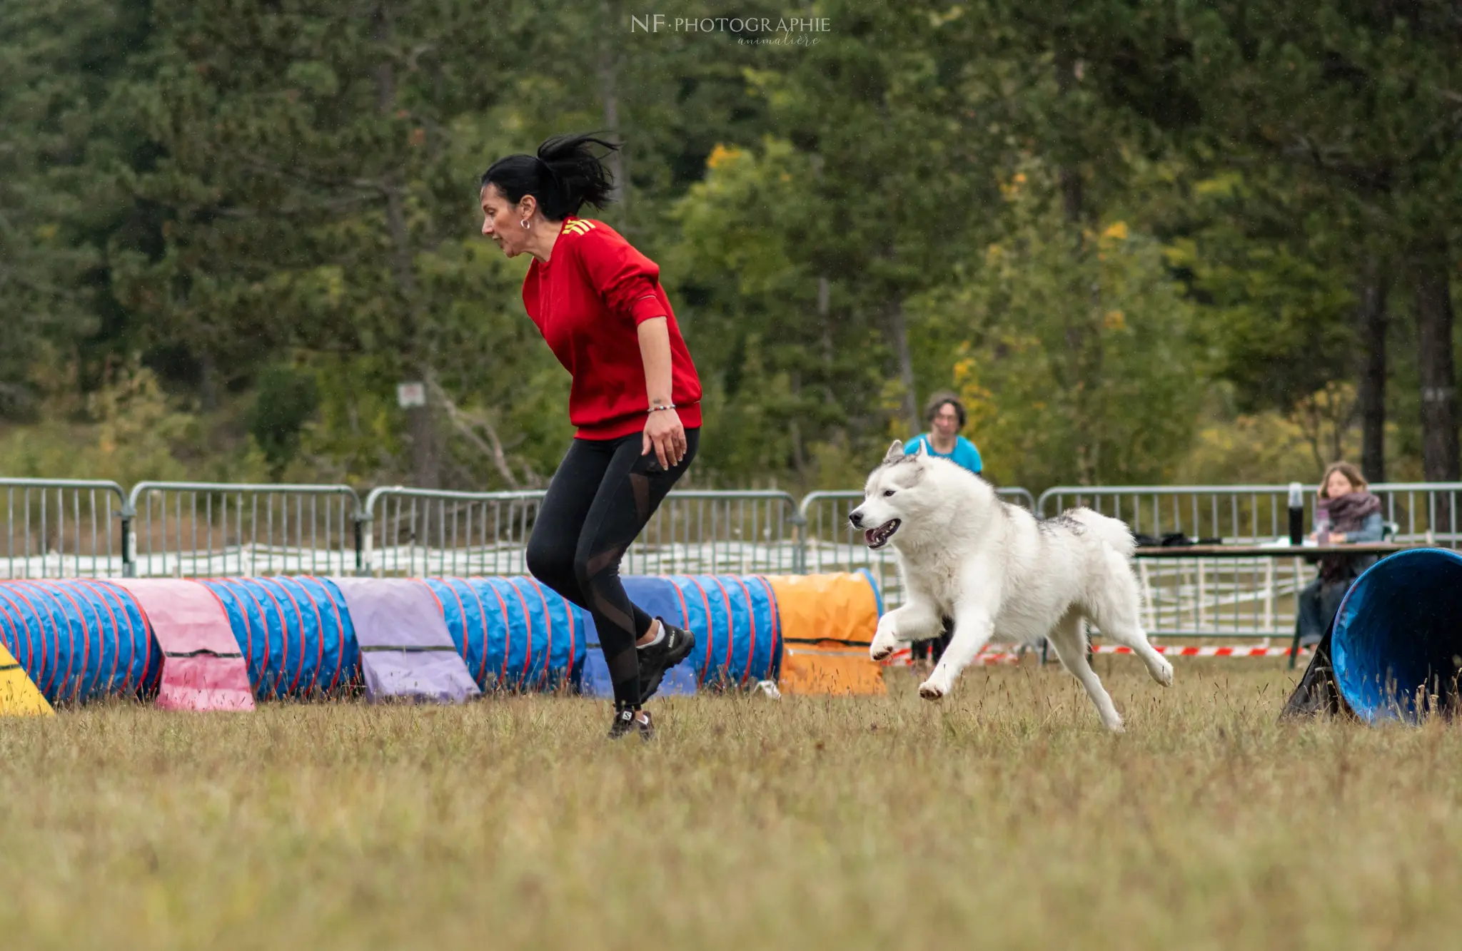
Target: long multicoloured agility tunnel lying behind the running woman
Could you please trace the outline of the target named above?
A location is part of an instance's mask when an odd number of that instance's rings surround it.
[[[665,695],[778,681],[785,657],[794,692],[882,691],[867,660],[882,600],[866,571],[624,583],[652,615],[696,634]],[[0,581],[0,647],[10,657],[0,654],[0,694],[16,697],[0,713],[137,695],[249,710],[355,692],[613,694],[589,614],[531,577]]]

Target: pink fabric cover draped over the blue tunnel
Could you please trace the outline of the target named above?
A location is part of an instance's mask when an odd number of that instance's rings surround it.
[[[197,581],[124,578],[162,650],[158,707],[253,710],[249,668],[218,596]]]

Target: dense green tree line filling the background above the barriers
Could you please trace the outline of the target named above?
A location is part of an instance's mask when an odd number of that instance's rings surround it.
[[[702,485],[858,485],[940,389],[1035,489],[1459,479],[1462,4],[643,13],[0,4],[0,467],[542,485],[567,378],[477,180],[605,130]]]

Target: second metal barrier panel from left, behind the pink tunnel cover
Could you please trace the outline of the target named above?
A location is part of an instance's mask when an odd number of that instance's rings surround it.
[[[360,497],[348,485],[139,482],[126,574],[355,574]]]

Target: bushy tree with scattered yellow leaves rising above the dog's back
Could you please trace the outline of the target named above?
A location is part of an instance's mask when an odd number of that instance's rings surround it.
[[[1170,478],[1203,383],[1194,308],[1161,245],[1120,221],[1073,228],[1037,164],[1004,193],[1004,238],[962,285],[920,302],[966,327],[953,377],[990,475],[1016,485]]]

